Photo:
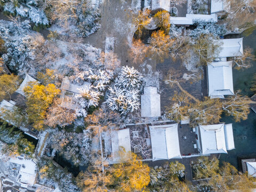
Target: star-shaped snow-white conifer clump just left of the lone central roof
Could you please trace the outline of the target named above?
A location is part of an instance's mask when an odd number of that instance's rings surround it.
[[[126,115],[139,109],[142,75],[133,67],[122,67],[107,91],[106,103],[111,110]]]

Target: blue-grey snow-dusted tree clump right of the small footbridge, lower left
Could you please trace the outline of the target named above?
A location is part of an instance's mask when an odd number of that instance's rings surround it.
[[[58,131],[51,135],[50,145],[75,165],[85,165],[90,162],[91,138],[89,131],[83,133]]]

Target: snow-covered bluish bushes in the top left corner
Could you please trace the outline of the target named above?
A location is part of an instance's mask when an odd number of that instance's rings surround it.
[[[44,10],[38,5],[37,0],[7,0],[4,5],[4,11],[14,15],[20,15],[23,18],[29,18],[36,25],[48,25]]]

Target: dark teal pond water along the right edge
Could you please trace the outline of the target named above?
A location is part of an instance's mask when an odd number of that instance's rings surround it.
[[[256,30],[250,36],[244,37],[243,46],[244,49],[251,47],[253,54],[256,53]],[[251,97],[253,74],[256,74],[256,61],[253,61],[250,69],[233,69],[234,90],[241,90],[243,94]],[[228,151],[228,154],[221,154],[220,162],[229,162],[238,168],[238,157],[256,156],[256,114],[251,110],[245,121],[236,123],[231,117],[222,117],[221,122],[233,123],[235,149]]]

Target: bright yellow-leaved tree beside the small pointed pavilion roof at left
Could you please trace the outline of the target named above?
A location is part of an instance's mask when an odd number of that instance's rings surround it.
[[[23,91],[27,97],[26,112],[29,122],[33,123],[36,130],[43,130],[46,109],[53,102],[53,98],[60,93],[60,90],[54,84],[44,86],[29,82],[29,85]]]

